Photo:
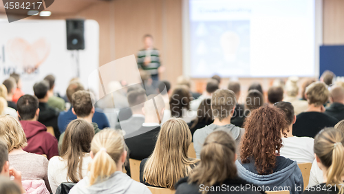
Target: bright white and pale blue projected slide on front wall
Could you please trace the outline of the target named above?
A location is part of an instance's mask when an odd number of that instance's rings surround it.
[[[314,0],[190,0],[190,73],[314,76]]]

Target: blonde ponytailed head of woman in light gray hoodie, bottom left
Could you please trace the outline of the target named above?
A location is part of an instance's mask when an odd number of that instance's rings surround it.
[[[90,185],[102,182],[116,171],[121,171],[127,158],[122,131],[103,129],[96,133],[91,142],[90,155],[93,158],[89,165]]]

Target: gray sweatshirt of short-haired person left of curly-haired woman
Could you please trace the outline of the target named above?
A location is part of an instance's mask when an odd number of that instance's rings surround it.
[[[232,135],[233,139],[235,140],[237,147],[239,147],[241,136],[243,136],[245,132],[245,129],[237,127],[233,124],[222,125],[222,126],[211,124],[201,129],[197,129],[195,133],[193,133],[193,147],[195,148],[196,157],[198,159],[201,158],[201,150],[202,150],[204,141],[206,140],[206,137],[209,135],[209,133],[215,131],[216,129],[223,129],[224,131],[229,132]],[[237,154],[239,155],[239,149],[237,149]]]

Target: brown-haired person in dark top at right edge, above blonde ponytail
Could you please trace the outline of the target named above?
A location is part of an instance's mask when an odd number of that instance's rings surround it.
[[[330,89],[330,107],[326,108],[325,114],[333,116],[337,120],[344,119],[344,88],[334,85]]]

